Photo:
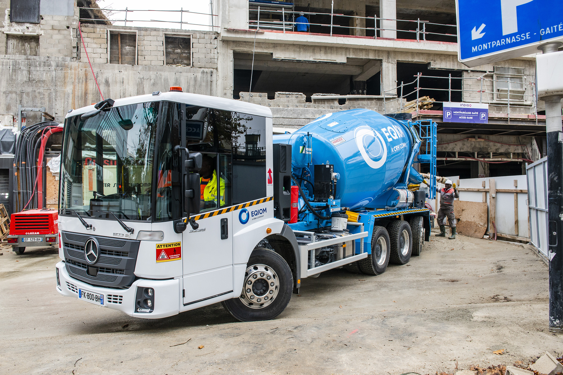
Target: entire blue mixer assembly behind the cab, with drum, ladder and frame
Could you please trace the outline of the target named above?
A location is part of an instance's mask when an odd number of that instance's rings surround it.
[[[425,202],[435,197],[433,121],[397,120],[354,109],[320,116],[292,134],[274,135],[274,143],[292,146],[291,178],[299,198],[297,221],[288,225],[297,236],[333,233],[335,222],[346,216],[343,231],[369,233],[355,240],[355,254],[372,254],[372,247],[379,251],[380,243],[373,242],[376,234],[382,228],[391,233],[389,225],[395,228],[396,221],[410,223],[413,238],[416,227],[416,238],[430,240]],[[430,164],[428,192],[419,188],[423,177],[413,168],[415,162]]]

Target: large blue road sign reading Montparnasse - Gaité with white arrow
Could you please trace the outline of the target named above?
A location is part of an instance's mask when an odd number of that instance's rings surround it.
[[[458,58],[473,67],[563,42],[563,0],[455,0]]]

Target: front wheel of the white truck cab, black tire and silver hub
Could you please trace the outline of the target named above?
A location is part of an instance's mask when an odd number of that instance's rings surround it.
[[[293,276],[283,257],[275,251],[257,247],[248,260],[240,296],[221,304],[241,322],[270,320],[282,313],[292,291]]]

